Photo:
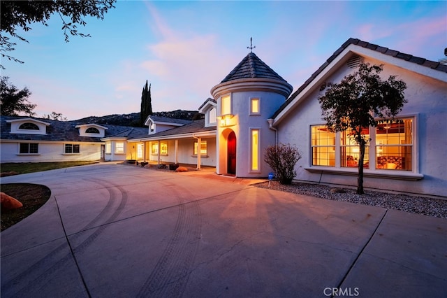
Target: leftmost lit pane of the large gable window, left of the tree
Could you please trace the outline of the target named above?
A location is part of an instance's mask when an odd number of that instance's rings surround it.
[[[312,165],[335,166],[335,133],[324,125],[311,127]]]

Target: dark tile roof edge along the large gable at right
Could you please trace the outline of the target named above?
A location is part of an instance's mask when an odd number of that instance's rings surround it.
[[[312,83],[314,83],[314,80],[316,80],[316,78],[319,75],[321,75],[321,73],[323,73],[323,71],[325,71],[325,69],[328,68],[328,66],[330,66],[332,62],[338,59],[339,56],[342,55],[342,52],[344,52],[346,48],[348,48],[350,45],[357,45],[361,48],[372,50],[374,52],[378,52],[383,55],[395,57],[397,59],[402,59],[406,62],[418,64],[420,66],[427,67],[435,71],[441,71],[443,73],[447,73],[447,65],[441,64],[440,62],[434,62],[431,60],[427,60],[425,58],[405,54],[397,50],[390,50],[389,48],[384,48],[379,45],[375,45],[373,43],[368,43],[367,41],[360,41],[360,39],[358,38],[349,38],[345,43],[342,44],[340,48],[338,48],[334,52],[334,54],[332,54],[332,56],[330,56],[314,73],[312,73],[312,76],[310,76],[310,78],[308,78],[305,81],[305,83],[298,88],[298,90],[296,90],[295,92],[293,92],[293,94],[291,94],[291,96],[286,100],[286,102],[282,104],[282,106],[274,113],[274,115],[272,115],[272,119],[277,120],[276,118],[281,114],[281,112],[286,110],[286,108],[290,108],[289,105],[293,101],[295,101],[295,99],[298,96],[300,96],[303,90],[309,87],[309,85],[312,85]]]

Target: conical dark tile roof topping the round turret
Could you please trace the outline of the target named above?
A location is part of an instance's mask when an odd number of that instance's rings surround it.
[[[254,52],[249,52],[242,61],[237,64],[235,69],[226,76],[221,83],[228,82],[230,80],[238,80],[241,78],[271,78],[274,80],[281,80],[286,82],[284,78],[281,78],[278,73],[265,64]],[[286,82],[287,83],[287,82]]]

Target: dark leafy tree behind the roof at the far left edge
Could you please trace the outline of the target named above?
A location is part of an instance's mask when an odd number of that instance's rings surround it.
[[[15,85],[8,83],[8,80],[7,76],[2,76],[0,81],[1,115],[18,116],[20,113],[36,115],[33,111],[36,105],[28,101],[31,95],[28,88],[19,90]]]

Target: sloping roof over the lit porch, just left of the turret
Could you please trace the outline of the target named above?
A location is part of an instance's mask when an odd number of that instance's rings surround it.
[[[205,127],[205,120],[195,120],[191,123],[184,125],[182,127],[175,127],[173,129],[168,129],[163,132],[157,132],[156,134],[141,134],[140,136],[135,136],[133,140],[156,140],[156,139],[170,139],[171,137],[179,138],[179,137],[191,137],[193,134],[203,134],[205,132],[210,132],[211,134],[216,134],[217,128],[214,127]],[[132,141],[132,140],[129,140]]]

